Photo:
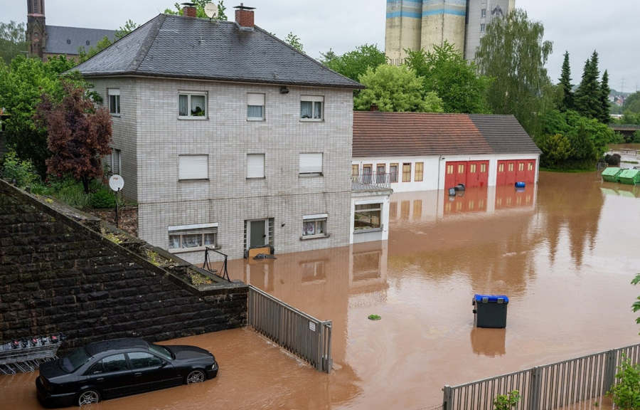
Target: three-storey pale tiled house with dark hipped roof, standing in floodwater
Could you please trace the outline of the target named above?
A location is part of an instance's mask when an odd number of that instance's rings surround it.
[[[75,69],[113,120],[139,236],[202,262],[385,239],[388,184],[350,179],[353,90],[254,24],[161,14]]]

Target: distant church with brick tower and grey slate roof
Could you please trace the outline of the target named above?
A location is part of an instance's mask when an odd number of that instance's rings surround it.
[[[114,30],[97,28],[80,28],[64,26],[48,26],[45,19],[45,0],[27,0],[27,30],[31,56],[38,56],[43,61],[51,56],[67,56],[75,58],[78,49],[89,50],[98,41],[108,37],[114,40]]]

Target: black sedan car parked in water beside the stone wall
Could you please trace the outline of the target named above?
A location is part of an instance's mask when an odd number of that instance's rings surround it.
[[[95,342],[40,366],[38,399],[46,406],[97,403],[218,374],[213,354],[194,346],[160,346],[142,339]]]

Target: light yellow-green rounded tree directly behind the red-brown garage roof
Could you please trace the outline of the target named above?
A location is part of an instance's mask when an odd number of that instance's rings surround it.
[[[422,94],[422,79],[405,65],[378,65],[368,68],[360,77],[366,85],[353,100],[356,110],[369,110],[378,105],[380,111],[442,112],[442,100],[436,93]]]

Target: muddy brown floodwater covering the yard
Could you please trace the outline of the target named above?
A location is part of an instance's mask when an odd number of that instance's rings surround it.
[[[230,330],[166,342],[210,349],[220,362],[216,379],[92,408],[434,406],[444,384],[639,343],[630,308],[640,294],[630,284],[639,244],[640,186],[595,173],[542,172],[522,191],[393,194],[387,242],[229,263],[232,278],[333,320],[331,374],[252,330]],[[509,296],[506,329],[474,327],[474,293]],[[12,409],[39,408],[35,377],[0,377],[1,399]]]

